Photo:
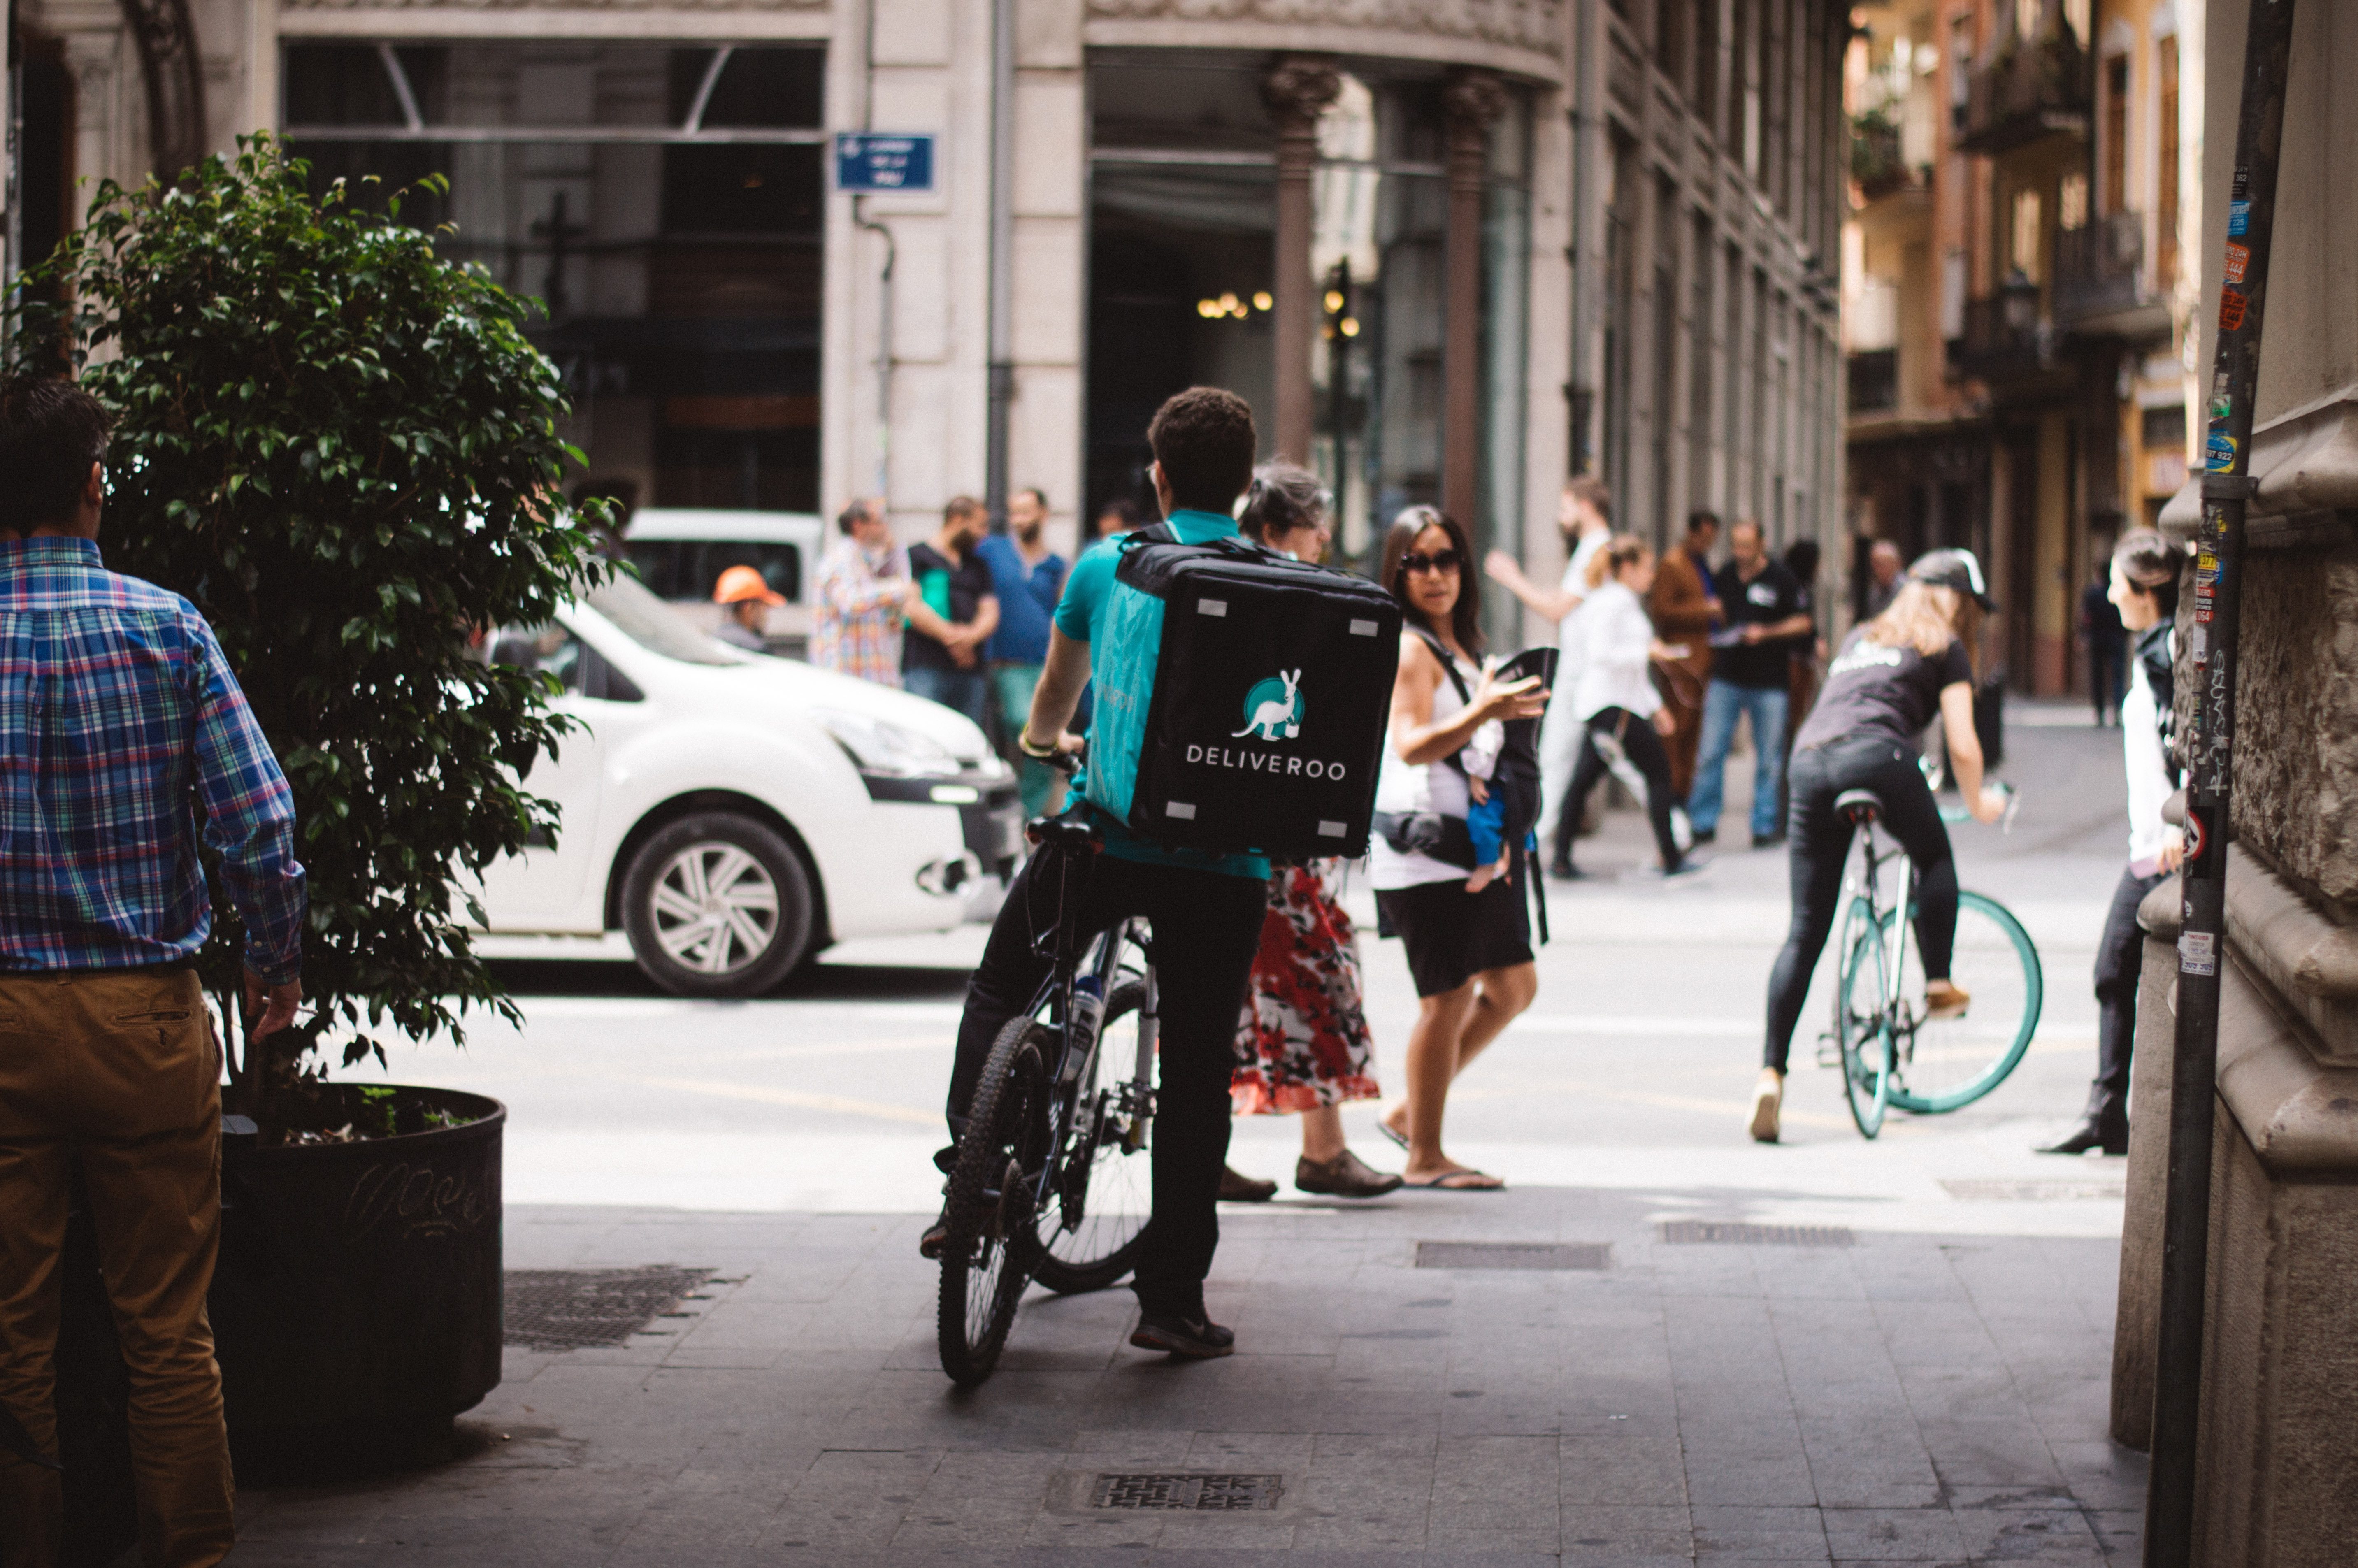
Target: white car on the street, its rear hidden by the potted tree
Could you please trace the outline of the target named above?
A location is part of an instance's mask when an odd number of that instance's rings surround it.
[[[1014,773],[938,703],[729,648],[627,575],[490,653],[582,722],[526,778],[556,842],[483,877],[493,934],[620,929],[665,990],[743,997],[851,936],[957,927],[1014,868]]]

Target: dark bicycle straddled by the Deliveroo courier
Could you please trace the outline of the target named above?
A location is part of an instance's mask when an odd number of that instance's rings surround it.
[[[1096,828],[1035,818],[1026,837],[1030,896],[1054,887],[1052,922],[1033,924],[1049,974],[990,1045],[943,1210],[941,1370],[962,1389],[990,1377],[1028,1283],[1113,1285],[1153,1214],[1153,936],[1144,920],[1075,929]]]

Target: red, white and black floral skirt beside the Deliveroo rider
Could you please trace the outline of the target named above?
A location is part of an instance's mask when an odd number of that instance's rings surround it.
[[[1358,986],[1358,936],[1330,891],[1337,863],[1285,865],[1269,879],[1262,950],[1236,1030],[1229,1099],[1238,1115],[1375,1099],[1375,1037]]]

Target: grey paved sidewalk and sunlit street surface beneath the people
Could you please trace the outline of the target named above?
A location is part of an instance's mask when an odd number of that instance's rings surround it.
[[[1738,1129],[1783,856],[1618,882],[1644,832],[1613,818],[1585,844],[1606,875],[1554,898],[1537,1007],[1453,1094],[1453,1151],[1511,1191],[1226,1210],[1210,1304],[1240,1353],[1205,1365],[1132,1351],[1127,1292],[1035,1290],[997,1377],[943,1379],[915,1238],[974,931],[738,1007],[514,964],[523,1033],[394,1063],[509,1103],[507,1266],[717,1278],[625,1346],[512,1349],[450,1462],[250,1476],[231,1561],[2134,1561],[2143,1460],[2106,1441],[2120,1162],[2028,1153],[2092,1068],[2115,747],[2016,731],[2033,811],[1962,830],[1959,863],[2040,941],[2040,1037],[1981,1106],[1875,1144],[1806,1042],[1787,1144]],[[1370,941],[1379,1070],[1412,1004],[1396,969]],[[1370,1106],[1346,1122],[1391,1153]],[[1285,1174],[1292,1137],[1240,1122],[1233,1160]],[[1665,1231],[1695,1219],[1768,1231]],[[1422,1243],[1601,1266],[1431,1266],[1467,1259]],[[1262,1478],[1238,1485],[1276,1507],[1092,1507],[1108,1474]]]

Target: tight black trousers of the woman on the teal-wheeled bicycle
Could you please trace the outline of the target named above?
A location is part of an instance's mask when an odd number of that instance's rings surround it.
[[[1924,979],[1945,981],[1948,960],[1957,946],[1957,863],[1948,854],[1948,828],[1941,806],[1917,769],[1915,755],[1898,740],[1839,740],[1792,755],[1792,927],[1785,950],[1768,974],[1768,1040],[1761,1063],[1785,1070],[1792,1049],[1792,1026],[1809,1000],[1809,976],[1835,929],[1842,905],[1842,865],[1851,854],[1851,823],[1835,813],[1844,790],[1875,790],[1884,799],[1877,818],[1915,861],[1915,927],[1924,955]]]

